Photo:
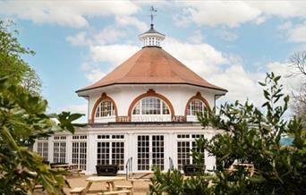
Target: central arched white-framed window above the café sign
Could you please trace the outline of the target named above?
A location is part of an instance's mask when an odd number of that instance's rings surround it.
[[[169,106],[158,97],[144,97],[132,109],[133,115],[160,114],[169,115]]]

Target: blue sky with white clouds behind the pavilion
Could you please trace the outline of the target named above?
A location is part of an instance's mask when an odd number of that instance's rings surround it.
[[[25,3],[26,2],[26,3]],[[24,56],[43,82],[49,112],[86,113],[81,89],[140,49],[154,5],[163,48],[204,79],[229,90],[219,102],[261,103],[257,81],[266,72],[287,76],[290,55],[306,49],[304,1],[0,1],[12,19]],[[290,93],[301,78],[285,78]]]

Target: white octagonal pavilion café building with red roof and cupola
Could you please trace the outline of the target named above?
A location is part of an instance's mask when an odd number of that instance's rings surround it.
[[[126,164],[135,171],[152,165],[182,170],[192,164],[195,139],[220,132],[202,129],[196,115],[214,107],[227,90],[163,50],[165,35],[153,24],[139,38],[143,47],[136,54],[76,91],[88,101],[86,127],[36,141],[34,150],[47,161],[78,164],[86,174],[96,174],[96,165],[119,165],[119,174]],[[215,157],[208,152],[204,161],[207,169],[214,168]]]

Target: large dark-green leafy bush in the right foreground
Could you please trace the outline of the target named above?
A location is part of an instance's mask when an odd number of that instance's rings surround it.
[[[151,180],[150,192],[305,194],[306,141],[302,137],[302,123],[296,117],[285,120],[289,97],[282,93],[283,86],[278,84],[279,80],[280,76],[272,72],[267,74],[264,82],[259,82],[265,88],[263,95],[266,98],[261,108],[237,101],[221,106],[217,114],[205,111],[199,115],[204,131],[207,127],[225,130],[211,140],[201,138],[196,141],[198,148],[206,149],[216,157],[214,174],[199,173],[183,180],[180,172],[161,174],[157,171]],[[281,136],[286,133],[293,135],[291,147],[280,144]],[[193,152],[192,157],[197,156],[198,153]],[[246,163],[253,165],[255,171],[246,169],[243,166]],[[231,169],[232,165],[236,168]],[[178,190],[173,192],[172,189]]]

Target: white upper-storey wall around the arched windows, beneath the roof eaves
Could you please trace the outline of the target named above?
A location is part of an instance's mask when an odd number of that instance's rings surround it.
[[[216,91],[211,89],[202,89],[190,86],[124,86],[124,87],[114,87],[108,88],[106,90],[98,89],[94,93],[89,95],[89,119],[91,119],[91,112],[96,101],[103,93],[106,93],[108,97],[114,99],[117,106],[118,116],[128,115],[129,106],[132,101],[146,93],[149,89],[154,89],[156,93],[161,94],[168,98],[172,105],[174,106],[175,115],[184,115],[185,106],[188,100],[195,96],[198,91],[200,91],[202,97],[208,100],[209,106],[212,108],[214,106],[214,96]],[[190,117],[190,121],[196,121],[195,117]],[[96,123],[107,123],[115,122],[114,117],[107,118],[95,118]]]

